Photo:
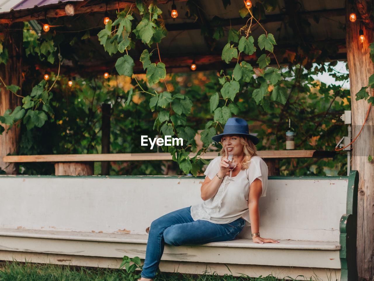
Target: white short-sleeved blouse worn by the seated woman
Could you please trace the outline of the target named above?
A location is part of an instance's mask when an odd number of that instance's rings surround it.
[[[220,170],[221,156],[214,158],[206,168],[204,175],[213,179]],[[203,203],[191,206],[193,220],[206,220],[212,223],[231,223],[240,217],[249,222],[248,194],[249,186],[255,179],[262,182],[261,197],[266,196],[267,165],[259,156],[253,156],[246,170],[233,176],[224,176],[217,193]]]

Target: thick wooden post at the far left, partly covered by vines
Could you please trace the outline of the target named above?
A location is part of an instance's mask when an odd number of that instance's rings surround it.
[[[4,48],[8,51],[9,60],[6,65],[0,65],[0,77],[3,79],[5,84],[17,85],[21,87],[22,92],[22,43],[23,43],[23,22],[17,22],[10,26],[13,30],[0,30],[0,33],[4,35]],[[3,84],[3,83],[1,83]],[[17,97],[12,92],[6,90],[4,85],[0,86],[0,115],[4,115],[7,109],[15,109],[21,105],[22,98]],[[5,132],[0,135],[0,169],[4,170],[8,175],[15,175],[18,173],[17,163],[4,163],[3,156],[7,154],[17,154],[18,151],[18,140],[19,140],[19,128],[13,126],[12,129],[7,131],[9,126],[4,126]]]

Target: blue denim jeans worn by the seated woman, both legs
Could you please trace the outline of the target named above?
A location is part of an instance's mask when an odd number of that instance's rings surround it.
[[[190,209],[191,206],[171,212],[151,223],[141,277],[154,278],[165,243],[180,246],[229,241],[236,238],[245,225],[243,218],[226,224],[204,220],[194,221]]]

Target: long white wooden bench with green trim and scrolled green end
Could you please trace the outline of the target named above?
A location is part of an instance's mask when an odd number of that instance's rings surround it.
[[[0,176],[0,260],[118,268],[145,257],[151,222],[201,202],[203,178],[187,176]],[[260,199],[262,237],[250,227],[228,242],[166,246],[161,271],[298,275],[355,280],[358,172],[269,177]]]

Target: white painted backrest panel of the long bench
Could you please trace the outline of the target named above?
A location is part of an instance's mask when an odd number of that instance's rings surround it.
[[[144,234],[151,222],[202,202],[203,178],[0,176],[2,228]],[[262,237],[339,241],[348,177],[269,177],[260,199]],[[246,227],[241,237],[250,237]]]

